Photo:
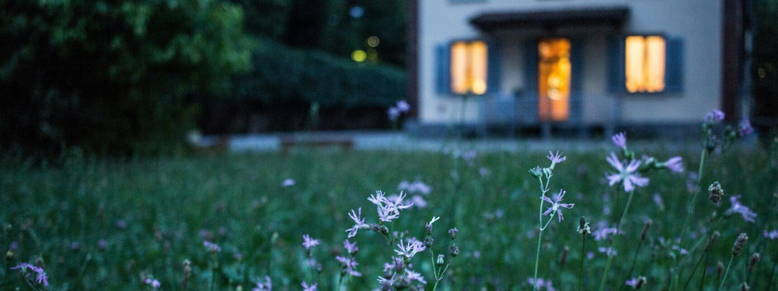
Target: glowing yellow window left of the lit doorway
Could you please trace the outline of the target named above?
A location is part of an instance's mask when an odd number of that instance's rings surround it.
[[[451,44],[451,92],[486,92],[486,43],[475,40]]]

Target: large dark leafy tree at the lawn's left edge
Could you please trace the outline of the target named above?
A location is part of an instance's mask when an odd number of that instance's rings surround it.
[[[249,68],[243,21],[219,0],[0,0],[0,145],[171,151],[187,96]]]

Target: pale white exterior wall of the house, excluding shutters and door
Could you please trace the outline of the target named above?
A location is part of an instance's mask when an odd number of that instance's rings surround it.
[[[631,95],[614,102],[606,92],[607,41],[600,29],[584,29],[584,80],[582,107],[587,123],[608,123],[612,112],[624,123],[691,123],[710,109],[720,107],[721,11],[717,0],[485,0],[453,4],[450,0],[419,0],[419,120],[444,123],[458,119],[461,100],[438,95],[435,90],[435,50],[450,40],[485,37],[469,24],[485,12],[607,8],[628,6],[625,32],[664,33],[684,40],[684,92],[682,94]],[[511,29],[495,34],[503,41],[500,90],[513,92],[524,85],[521,75],[522,40],[541,32]],[[575,72],[573,72],[575,74]],[[618,109],[612,106],[617,104]],[[465,106],[465,119],[476,122],[478,103]]]

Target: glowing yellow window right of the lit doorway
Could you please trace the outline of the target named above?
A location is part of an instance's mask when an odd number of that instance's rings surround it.
[[[664,90],[664,37],[627,36],[627,92],[662,92]]]

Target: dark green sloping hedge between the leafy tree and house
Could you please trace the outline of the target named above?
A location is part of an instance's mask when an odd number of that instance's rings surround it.
[[[405,71],[261,39],[254,52],[254,68],[237,79],[236,93],[239,99],[267,102],[389,107],[405,95]]]

